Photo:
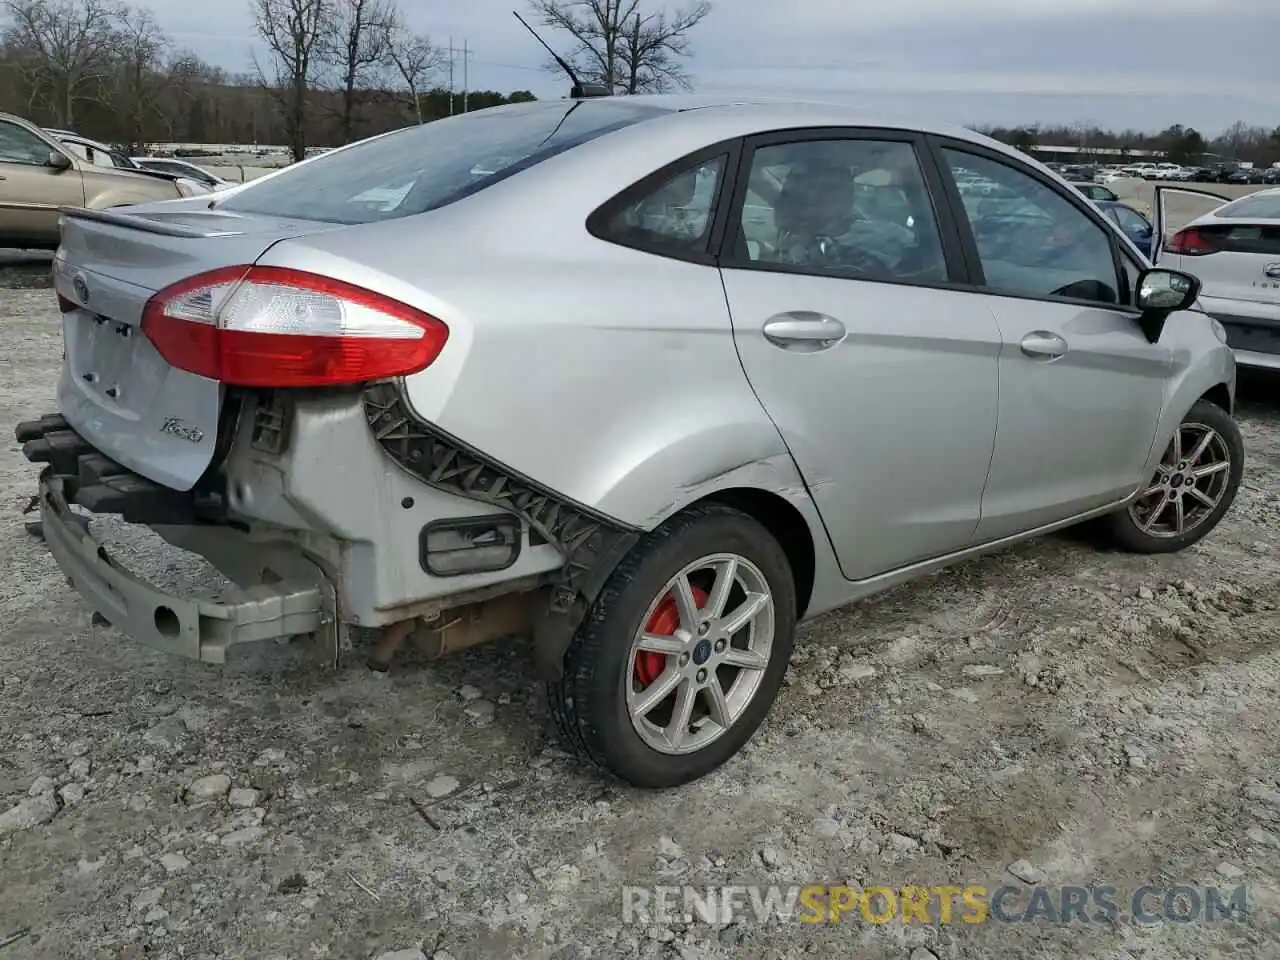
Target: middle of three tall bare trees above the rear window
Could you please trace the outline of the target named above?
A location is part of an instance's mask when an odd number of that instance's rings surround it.
[[[321,56],[337,74],[342,142],[355,140],[360,93],[389,63],[396,28],[392,0],[332,0]]]

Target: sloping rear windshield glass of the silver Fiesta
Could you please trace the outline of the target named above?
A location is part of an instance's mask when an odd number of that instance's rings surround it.
[[[218,206],[358,224],[435,210],[549,156],[666,113],[625,100],[545,101],[434,120],[324,155]]]

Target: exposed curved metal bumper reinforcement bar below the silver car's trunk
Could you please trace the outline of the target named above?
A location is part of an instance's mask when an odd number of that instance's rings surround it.
[[[300,634],[329,637],[337,648],[334,595],[324,584],[271,584],[221,603],[186,599],[151,586],[113,559],[72,512],[64,481],[47,467],[40,477],[45,543],[90,608],[140,643],[205,663],[224,663],[237,644]]]

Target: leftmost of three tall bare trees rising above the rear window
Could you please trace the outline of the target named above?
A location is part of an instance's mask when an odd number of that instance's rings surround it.
[[[307,93],[321,65],[329,29],[328,0],[251,0],[253,27],[271,54],[271,76],[259,78],[284,110],[284,129],[294,160],[307,154]],[[256,64],[256,60],[255,60]]]

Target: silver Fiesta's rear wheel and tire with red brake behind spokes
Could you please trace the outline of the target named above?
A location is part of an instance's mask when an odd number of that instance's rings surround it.
[[[730,568],[730,558],[735,572],[726,577],[722,571]],[[733,630],[726,622],[723,631],[730,635],[721,630],[722,621],[712,621],[705,635],[681,632],[685,618],[675,588],[668,588],[687,567],[704,561],[707,566],[686,576],[690,599],[699,612],[709,609],[717,599],[714,584],[723,580],[731,591],[722,600],[724,621],[741,614],[748,600],[756,598],[760,611],[750,630]],[[718,566],[713,570],[712,563]],[[758,599],[765,591],[771,598],[767,604]],[[667,653],[637,650],[641,626],[673,646]],[[718,504],[690,508],[648,534],[605,582],[564,654],[563,678],[548,685],[552,716],[579,756],[632,786],[658,790],[687,783],[733,756],[759,728],[791,659],[795,626],[795,580],[777,540],[736,509]],[[753,649],[745,649],[748,645]],[[737,667],[726,658],[749,658],[760,668]],[[685,694],[686,685],[698,687],[699,671],[707,675],[707,686]],[[634,722],[640,692],[657,695],[673,676],[690,678],[657,700],[643,721]],[[712,685],[722,691],[719,719],[712,710]],[[682,726],[676,709],[690,696],[695,722]],[[668,704],[668,732],[663,732],[658,722]]]

